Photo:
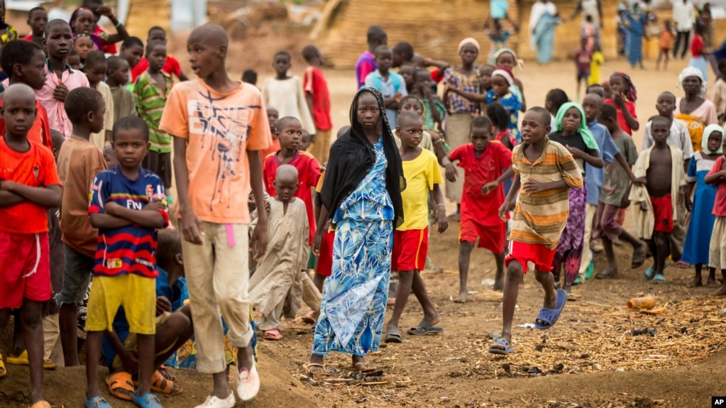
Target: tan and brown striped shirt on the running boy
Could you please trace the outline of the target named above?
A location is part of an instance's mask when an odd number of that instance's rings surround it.
[[[512,168],[522,183],[527,179],[542,183],[564,180],[568,187],[535,194],[521,189],[509,240],[542,244],[554,249],[570,213],[570,189],[582,187],[582,173],[570,152],[562,144],[550,141],[547,136],[544,136],[542,156],[534,163],[524,156],[524,147],[526,144],[520,144],[512,152]]]

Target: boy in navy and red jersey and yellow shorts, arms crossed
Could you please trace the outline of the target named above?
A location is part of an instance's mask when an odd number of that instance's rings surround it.
[[[118,166],[102,171],[91,186],[89,215],[99,240],[94,284],[86,316],[86,361],[97,362],[106,330],[123,306],[129,332],[136,334],[139,386],[134,404],[161,407],[150,391],[156,331],[156,229],[168,225],[161,179],[141,167],[149,151],[149,128],[140,118],[121,118],[113,126]],[[98,387],[98,364],[86,366],[86,407],[109,408]]]

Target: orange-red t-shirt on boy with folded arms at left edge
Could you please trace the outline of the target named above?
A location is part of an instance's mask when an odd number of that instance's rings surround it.
[[[12,150],[0,137],[0,180],[15,181],[29,187],[60,185],[53,153],[41,144],[30,142],[27,152]],[[46,208],[26,200],[0,208],[0,231],[12,234],[48,232]]]

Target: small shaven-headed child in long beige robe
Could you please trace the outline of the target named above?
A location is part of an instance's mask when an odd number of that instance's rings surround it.
[[[250,277],[250,301],[262,314],[258,325],[265,340],[282,339],[283,306],[287,293],[299,284],[298,274],[306,273],[310,238],[306,205],[295,197],[300,189],[309,194],[310,188],[300,186],[298,169],[289,164],[277,167],[274,173],[274,189],[268,190],[274,192],[267,224],[268,248]],[[289,307],[294,314],[300,308],[299,298]]]

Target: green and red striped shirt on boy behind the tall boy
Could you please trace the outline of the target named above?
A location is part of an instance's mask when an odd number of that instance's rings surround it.
[[[164,113],[166,97],[171,92],[171,76],[162,72],[166,81],[166,90],[161,91],[158,84],[144,71],[134,84],[134,102],[139,118],[142,118],[149,126],[150,150],[158,153],[171,153],[171,136],[159,129],[161,115]]]

